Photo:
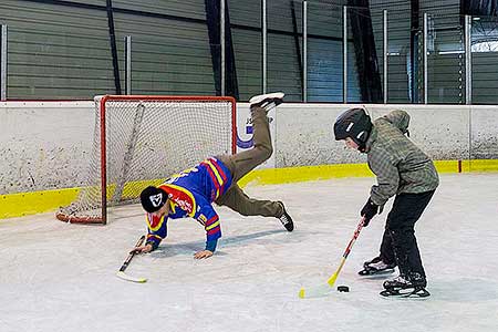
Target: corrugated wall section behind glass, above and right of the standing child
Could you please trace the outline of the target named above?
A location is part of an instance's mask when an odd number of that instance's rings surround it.
[[[428,103],[465,103],[464,27],[457,0],[418,1],[416,49],[411,60],[412,2],[371,0],[377,54],[382,54],[382,11],[388,11],[388,102],[423,102],[423,15],[428,13]],[[380,62],[382,63],[382,62]],[[412,63],[417,64],[412,71]],[[382,69],[383,71],[383,69]],[[412,76],[412,73],[414,75]],[[411,86],[414,87],[411,91]]]

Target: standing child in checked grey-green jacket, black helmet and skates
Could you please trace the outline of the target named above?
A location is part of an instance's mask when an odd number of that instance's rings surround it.
[[[367,155],[370,169],[376,175],[370,198],[361,210],[364,226],[392,197],[393,208],[387,215],[381,255],[364,263],[362,276],[393,271],[400,277],[384,281],[382,295],[428,297],[427,281],[415,238],[414,226],[427,207],[439,178],[432,159],[405,134],[409,115],[396,110],[373,123],[364,108],[351,108],[334,124],[336,141],[345,141],[350,148]]]

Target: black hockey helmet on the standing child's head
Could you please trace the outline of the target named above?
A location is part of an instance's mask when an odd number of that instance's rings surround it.
[[[335,141],[351,137],[361,148],[364,148],[372,131],[372,121],[364,108],[350,108],[339,115],[334,124]]]

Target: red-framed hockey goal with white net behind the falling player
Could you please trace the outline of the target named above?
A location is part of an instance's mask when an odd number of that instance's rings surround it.
[[[235,153],[236,137],[232,97],[97,96],[86,183],[56,218],[105,225],[107,207],[137,203],[146,186],[209,156]]]

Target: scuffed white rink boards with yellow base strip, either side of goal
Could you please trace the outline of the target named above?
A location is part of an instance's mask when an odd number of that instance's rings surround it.
[[[365,156],[333,137],[335,118],[351,106],[290,103],[272,111],[274,155],[241,184],[372,176]],[[498,106],[363,106],[373,118],[406,110],[411,138],[439,172],[498,170]],[[74,199],[86,176],[94,116],[92,101],[0,103],[0,218],[54,210]],[[247,103],[238,104],[237,116],[238,135],[247,138],[250,123],[240,121],[249,116]]]

